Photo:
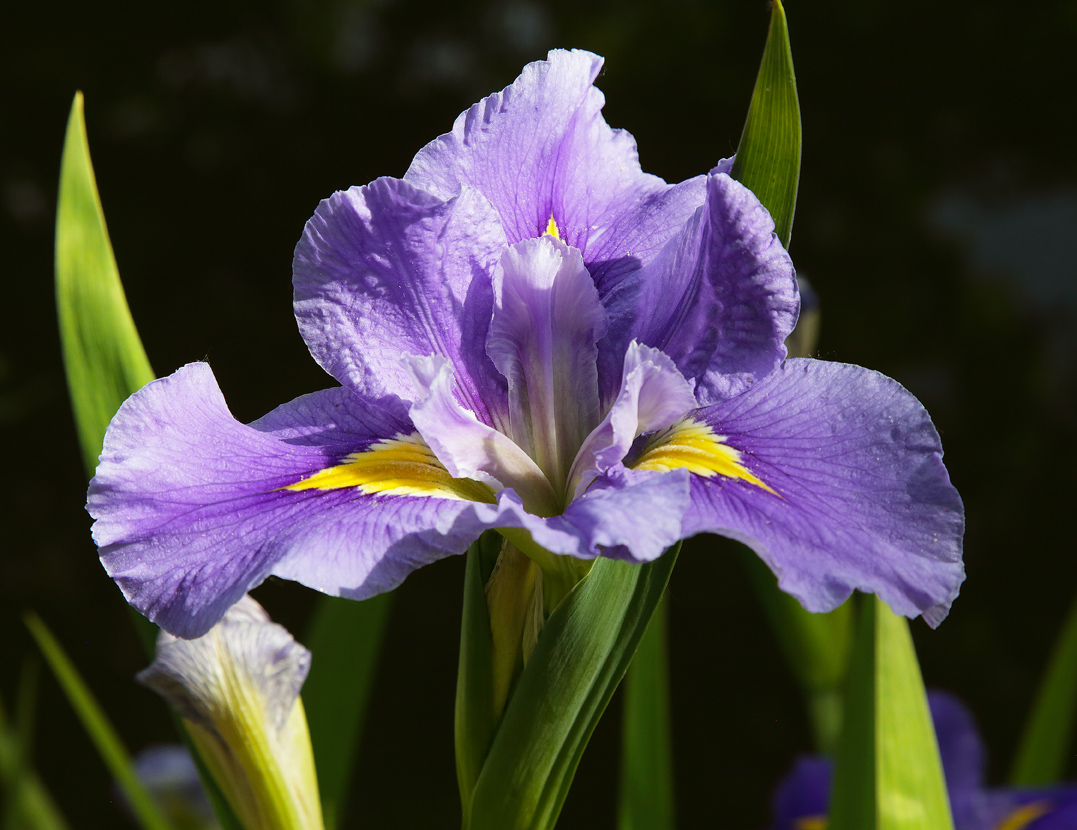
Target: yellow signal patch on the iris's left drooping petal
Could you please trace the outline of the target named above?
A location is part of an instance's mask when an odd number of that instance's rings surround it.
[[[493,503],[493,490],[470,478],[453,478],[418,433],[397,435],[353,452],[282,490],[344,490],[374,495],[424,495]]]

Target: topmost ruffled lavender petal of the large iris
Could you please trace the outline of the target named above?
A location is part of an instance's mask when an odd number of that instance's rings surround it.
[[[702,202],[702,181],[668,185],[641,171],[635,141],[605,123],[591,84],[602,58],[555,50],[457,118],[423,147],[405,179],[449,198],[481,191],[510,242],[540,237],[555,221],[583,252],[600,291],[647,262]]]

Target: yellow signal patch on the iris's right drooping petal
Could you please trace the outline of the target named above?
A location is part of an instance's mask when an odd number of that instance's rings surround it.
[[[658,433],[643,448],[643,454],[632,467],[653,469],[657,473],[669,473],[684,467],[703,478],[712,476],[739,478],[778,495],[771,487],[744,466],[741,456],[740,450],[726,444],[724,436],[716,434],[707,424],[686,418],[669,430]]]

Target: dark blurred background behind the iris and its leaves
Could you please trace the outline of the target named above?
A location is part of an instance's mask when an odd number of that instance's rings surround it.
[[[933,413],[968,510],[968,581],[926,681],[959,693],[1009,766],[1077,585],[1077,2],[788,0],[803,116],[792,253],[823,307],[819,354],[901,381]],[[64,127],[86,94],[127,296],[159,375],[207,358],[251,420],[331,384],[291,313],[291,258],[333,191],[402,175],[422,144],[550,46],[606,56],[607,121],[645,170],[703,172],[740,136],[761,0],[23,3],[0,27],[0,695],[42,615],[132,750],[168,740],[145,659],[97,563],[52,291]],[[686,545],[671,586],[683,827],[758,828],[809,731],[733,546]],[[454,827],[462,560],[397,591],[350,822]],[[311,594],[256,593],[299,635]],[[317,656],[316,656],[317,659]],[[612,828],[617,702],[560,827]],[[122,827],[48,676],[36,760],[76,827]],[[1074,770],[1071,770],[1073,773]]]

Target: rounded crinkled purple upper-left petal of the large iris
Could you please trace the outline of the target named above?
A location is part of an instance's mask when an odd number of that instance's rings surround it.
[[[334,194],[295,249],[295,315],[310,353],[366,396],[409,399],[403,354],[439,354],[457,392],[487,423],[504,412],[504,380],[486,356],[490,273],[505,247],[476,191],[446,199],[395,179]]]

